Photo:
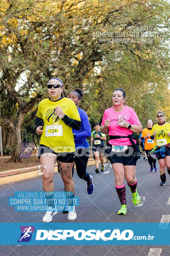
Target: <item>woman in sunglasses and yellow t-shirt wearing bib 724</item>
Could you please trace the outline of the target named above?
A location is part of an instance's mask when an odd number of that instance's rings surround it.
[[[76,149],[72,128],[79,130],[81,120],[74,102],[65,97],[61,79],[50,79],[47,88],[50,97],[39,103],[36,117],[36,131],[41,135],[38,157],[41,165],[47,166],[42,175],[42,186],[45,192],[54,192],[54,165],[57,160],[65,191],[73,192],[74,196],[72,168]],[[53,193],[51,193],[51,199],[52,195]],[[54,204],[52,208],[52,211],[46,212],[43,222],[50,222],[57,213]],[[72,221],[76,218],[75,206],[71,205],[68,220]]]

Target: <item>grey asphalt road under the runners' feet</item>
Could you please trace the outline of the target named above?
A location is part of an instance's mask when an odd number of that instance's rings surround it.
[[[117,215],[120,202],[114,186],[113,170],[107,174],[96,174],[95,166],[88,167],[88,172],[94,178],[95,188],[92,195],[87,194],[85,181],[80,180],[75,172],[75,196],[79,197],[79,206],[76,208],[77,219],[74,222],[154,223],[160,222],[162,215],[170,215],[170,205],[167,205],[170,197],[170,177],[166,173],[166,186],[159,186],[159,171],[150,173],[149,169],[147,162],[138,160],[136,177],[142,199],[141,206],[133,205],[130,189],[125,182],[127,215]],[[64,191],[59,173],[54,175],[54,190]],[[0,222],[42,222],[44,212],[15,212],[14,207],[8,205],[8,197],[14,196],[16,191],[42,191],[42,178],[0,186]],[[70,221],[67,214],[58,212],[52,222]],[[151,248],[161,248],[161,256],[170,256],[170,245],[1,245],[0,256],[147,256]]]

